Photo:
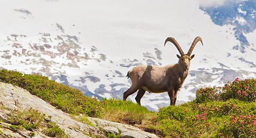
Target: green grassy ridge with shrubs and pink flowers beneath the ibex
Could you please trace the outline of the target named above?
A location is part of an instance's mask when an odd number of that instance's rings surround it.
[[[100,117],[135,125],[161,138],[254,138],[256,137],[256,80],[227,82],[223,87],[196,91],[196,99],[168,106],[158,113],[131,101],[96,99],[48,80],[41,75],[23,75],[0,70],[0,80],[27,89],[48,103],[72,115]]]

